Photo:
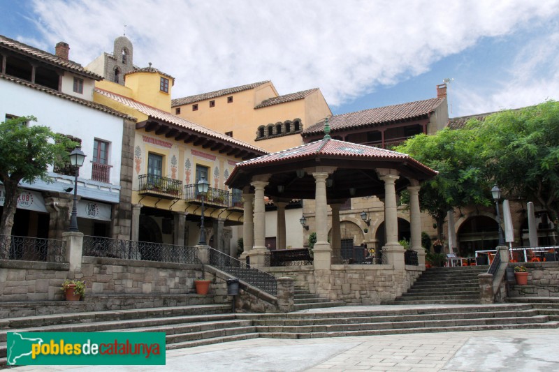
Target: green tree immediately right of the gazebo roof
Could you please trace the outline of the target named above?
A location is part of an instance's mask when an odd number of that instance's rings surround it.
[[[444,128],[435,135],[416,135],[395,148],[439,172],[419,191],[421,209],[437,222],[439,239],[448,211],[471,204],[491,205],[483,163],[477,156],[480,144],[474,134],[467,129]]]

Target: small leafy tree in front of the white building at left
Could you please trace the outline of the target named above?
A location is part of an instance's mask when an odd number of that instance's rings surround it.
[[[20,181],[52,181],[48,165],[68,158],[76,143],[52,133],[47,126],[29,126],[35,117],[19,117],[0,123],[0,181],[6,193],[0,218],[0,235],[11,235]]]

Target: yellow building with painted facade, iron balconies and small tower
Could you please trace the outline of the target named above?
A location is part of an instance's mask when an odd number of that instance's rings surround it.
[[[242,197],[224,181],[236,163],[266,151],[171,114],[172,76],[150,66],[124,77],[124,85],[108,80],[96,84],[94,101],[137,121],[135,133],[129,135],[133,154],[123,154],[123,161],[133,163],[131,239],[177,246],[201,242],[203,209],[196,183],[204,178],[210,186],[205,198],[206,242],[230,253],[230,226],[242,223]]]

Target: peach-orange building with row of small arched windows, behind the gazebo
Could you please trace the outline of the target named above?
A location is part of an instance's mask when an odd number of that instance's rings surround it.
[[[270,81],[173,99],[173,113],[267,151],[302,144],[300,133],[332,112],[320,89],[279,96]]]

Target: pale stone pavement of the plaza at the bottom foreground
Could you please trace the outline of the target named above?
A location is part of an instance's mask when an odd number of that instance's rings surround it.
[[[20,371],[559,371],[558,329],[255,338],[168,350],[166,366],[21,366]]]

